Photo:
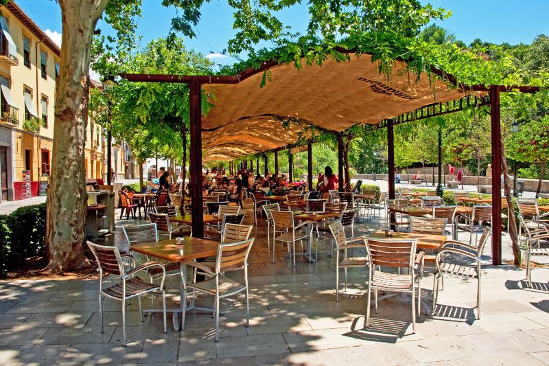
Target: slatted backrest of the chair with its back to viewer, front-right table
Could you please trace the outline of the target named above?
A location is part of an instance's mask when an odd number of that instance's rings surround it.
[[[371,268],[388,266],[413,269],[416,247],[416,240],[366,238],[366,251]]]

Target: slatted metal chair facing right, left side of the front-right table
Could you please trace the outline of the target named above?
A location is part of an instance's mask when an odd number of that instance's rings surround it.
[[[362,268],[368,264],[367,257],[348,256],[347,249],[366,249],[366,240],[364,238],[352,238],[348,240],[347,236],[345,236],[345,228],[341,225],[340,220],[332,222],[328,227],[336,242],[336,302],[339,302],[339,268],[344,268],[345,291],[347,291],[347,268]],[[343,255],[342,260],[340,260],[340,252]]]

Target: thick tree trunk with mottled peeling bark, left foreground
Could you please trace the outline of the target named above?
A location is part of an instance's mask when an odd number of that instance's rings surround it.
[[[59,0],[63,47],[56,85],[46,234],[48,268],[58,273],[89,265],[83,244],[90,48],[95,23],[107,3],[108,0]]]

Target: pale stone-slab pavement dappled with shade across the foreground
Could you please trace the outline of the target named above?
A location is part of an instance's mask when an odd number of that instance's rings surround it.
[[[248,217],[247,221],[252,222]],[[119,221],[118,224],[124,224]],[[135,222],[129,222],[135,223]],[[167,334],[160,314],[139,321],[137,301],[128,306],[127,347],[121,344],[120,303],[104,300],[100,333],[97,279],[0,282],[2,365],[541,365],[549,363],[549,269],[535,268],[535,289],[524,288],[524,270],[491,266],[483,255],[482,312],[475,319],[476,282],[445,279],[434,317],[422,315],[412,334],[410,304],[379,302],[364,328],[366,268],[349,271],[349,290],[335,301],[334,258],[318,263],[285,260],[283,247],[270,262],[263,221],[250,254],[250,328],[244,296],[222,304],[220,341],[210,314],[190,312],[186,330]],[[375,225],[358,225],[364,232]],[[467,234],[460,238],[466,240]],[[123,244],[120,231],[108,241]],[[509,244],[504,256],[510,256]],[[178,303],[176,279],[167,281],[169,303]],[[423,279],[430,305],[432,275]],[[202,305],[211,301],[200,298]],[[148,304],[148,299],[143,304]],[[158,304],[156,306],[159,306]]]

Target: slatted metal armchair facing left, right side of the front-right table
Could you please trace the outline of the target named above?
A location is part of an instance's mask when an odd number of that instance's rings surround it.
[[[467,279],[474,278],[477,280],[476,319],[480,319],[480,258],[484,246],[488,242],[489,234],[489,227],[484,227],[484,231],[482,231],[482,236],[480,236],[478,242],[478,247],[455,240],[448,240],[443,244],[435,259],[436,272],[434,273],[433,280],[433,314],[436,308],[436,302],[439,299],[440,280],[444,279],[444,275],[453,275]],[[474,264],[463,264],[463,257],[473,260]]]

